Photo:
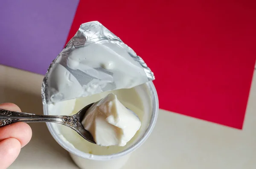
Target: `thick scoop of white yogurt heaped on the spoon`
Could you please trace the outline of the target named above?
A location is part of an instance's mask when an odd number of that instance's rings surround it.
[[[100,146],[125,146],[141,125],[137,115],[113,93],[94,103],[81,123]]]

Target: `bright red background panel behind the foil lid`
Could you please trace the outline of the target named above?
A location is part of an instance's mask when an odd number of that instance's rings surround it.
[[[143,57],[161,109],[242,128],[256,60],[255,1],[80,0],[68,40],[93,20]]]

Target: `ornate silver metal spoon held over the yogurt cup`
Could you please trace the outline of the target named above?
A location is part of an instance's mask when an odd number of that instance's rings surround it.
[[[84,129],[81,121],[87,112],[87,109],[92,106],[93,103],[85,106],[81,109],[76,115],[73,116],[59,116],[59,115],[35,115],[30,113],[20,113],[12,112],[9,110],[0,109],[0,126],[6,126],[16,122],[26,122],[26,123],[35,123],[35,122],[52,122],[60,123],[65,126],[74,129],[79,135],[81,135],[85,140],[95,143],[93,136]]]

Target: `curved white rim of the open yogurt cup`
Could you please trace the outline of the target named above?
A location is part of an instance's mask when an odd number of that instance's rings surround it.
[[[134,145],[130,146],[128,149],[125,149],[121,152],[117,152],[117,153],[114,153],[111,155],[91,155],[89,153],[82,152],[79,149],[74,149],[73,147],[71,147],[67,143],[65,143],[63,140],[61,140],[61,138],[59,138],[59,136],[58,136],[58,133],[52,128],[52,125],[50,123],[46,123],[47,128],[48,128],[49,132],[51,133],[52,137],[55,139],[55,141],[58,144],[60,144],[68,152],[70,152],[74,155],[77,155],[81,158],[90,159],[90,160],[110,160],[113,158],[119,158],[123,155],[127,155],[127,154],[133,152],[134,150],[136,150],[137,148],[139,148],[145,142],[145,140],[148,139],[149,135],[151,134],[151,132],[154,129],[154,126],[157,122],[157,116],[158,116],[158,111],[159,111],[159,101],[158,101],[157,91],[156,91],[156,88],[152,81],[146,83],[146,85],[151,90],[150,92],[151,92],[151,95],[153,96],[153,100],[152,100],[153,101],[153,105],[152,105],[153,113],[152,113],[151,119],[149,121],[148,128],[146,129],[143,136],[140,138],[140,140],[138,140]],[[48,113],[46,113],[47,112],[46,105],[43,105],[43,110],[44,110],[44,114],[48,114]]]

